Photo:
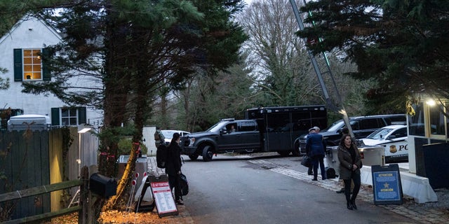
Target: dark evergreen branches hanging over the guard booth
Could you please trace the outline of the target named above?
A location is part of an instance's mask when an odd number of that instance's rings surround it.
[[[375,111],[405,111],[421,92],[449,98],[448,9],[445,0],[309,1],[310,26],[298,34],[321,38],[308,46],[315,53],[344,50],[358,66],[351,76],[376,80],[367,92]]]

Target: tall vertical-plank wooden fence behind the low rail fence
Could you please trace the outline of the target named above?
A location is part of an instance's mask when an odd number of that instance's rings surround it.
[[[67,148],[64,144],[69,140],[72,144]],[[0,194],[79,179],[80,167],[97,165],[97,150],[97,137],[91,132],[79,133],[77,127],[70,127],[68,133],[64,129],[2,131]],[[2,208],[13,208],[1,211],[0,218],[8,215],[17,219],[58,211],[67,207],[76,190],[78,187],[0,202]]]

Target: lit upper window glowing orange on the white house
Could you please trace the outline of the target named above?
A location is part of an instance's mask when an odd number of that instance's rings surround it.
[[[23,80],[42,80],[41,49],[23,50]]]

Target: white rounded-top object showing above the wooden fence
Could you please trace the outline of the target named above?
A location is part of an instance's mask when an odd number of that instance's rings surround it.
[[[8,120],[8,131],[43,131],[51,129],[51,120],[48,116],[38,114],[25,114],[12,116]]]

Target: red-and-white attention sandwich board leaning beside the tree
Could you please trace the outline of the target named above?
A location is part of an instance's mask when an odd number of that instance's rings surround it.
[[[163,216],[178,215],[173,193],[168,185],[167,176],[149,176],[150,186],[154,195],[154,202],[156,202],[156,210],[159,218]]]

